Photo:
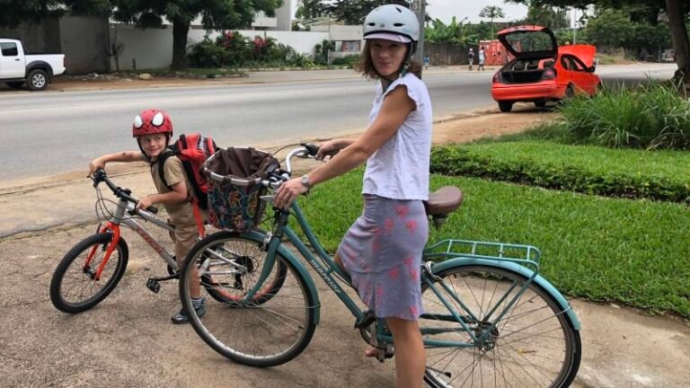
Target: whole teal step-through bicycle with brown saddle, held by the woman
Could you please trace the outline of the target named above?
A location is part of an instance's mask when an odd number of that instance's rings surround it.
[[[286,170],[261,184],[277,188],[289,178],[292,158],[314,157],[317,150],[315,145],[293,149]],[[425,205],[440,227],[461,202],[460,190],[443,188]],[[290,216],[305,241],[288,225]],[[296,201],[291,211],[274,208],[270,232],[217,232],[190,250],[181,269],[180,295],[201,339],[247,366],[278,366],[306,348],[321,304],[312,275],[286,242],[349,309],[362,338],[379,349],[379,360],[394,356],[385,321],[360,309],[345,292],[351,287],[348,275],[323,250]],[[535,247],[508,243],[445,240],[428,245],[420,268],[424,312],[419,323],[429,386],[572,383],[581,356],[579,321],[561,293],[539,275],[539,256]],[[199,270],[202,282],[214,279],[202,287],[213,291],[203,320],[191,308],[191,269]]]

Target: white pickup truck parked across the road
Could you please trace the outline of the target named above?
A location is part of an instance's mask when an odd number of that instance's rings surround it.
[[[54,75],[65,73],[63,54],[26,54],[19,40],[0,39],[0,82],[31,91],[48,87]]]

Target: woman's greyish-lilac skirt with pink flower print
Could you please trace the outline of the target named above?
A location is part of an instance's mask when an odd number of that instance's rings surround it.
[[[422,201],[364,195],[364,211],[343,237],[338,255],[377,317],[420,317],[421,253],[428,237]]]

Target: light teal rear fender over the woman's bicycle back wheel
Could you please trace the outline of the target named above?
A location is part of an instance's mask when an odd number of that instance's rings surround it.
[[[526,278],[531,278],[535,271],[531,269],[527,269],[526,267],[523,267],[517,263],[510,262],[510,261],[498,261],[498,260],[485,260],[485,259],[473,259],[473,258],[467,258],[467,257],[458,257],[456,259],[450,259],[450,260],[444,260],[440,261],[438,263],[434,263],[433,266],[431,266],[431,270],[436,274],[438,272],[442,272],[446,269],[450,269],[452,267],[460,266],[460,267],[466,267],[466,266],[471,266],[471,265],[480,265],[480,266],[487,266],[487,267],[494,267],[494,268],[499,268],[499,269],[505,269],[509,270],[511,272],[517,272],[518,274],[526,277]],[[553,298],[558,302],[558,304],[561,305],[561,308],[563,311],[568,316],[568,319],[571,321],[572,328],[576,331],[580,330],[580,323],[578,316],[575,314],[575,312],[572,310],[571,304],[568,303],[568,300],[565,299],[565,296],[561,294],[561,292],[556,288],[553,287],[553,285],[546,280],[541,275],[536,275],[534,282],[539,286],[544,289],[549,295],[552,295]]]

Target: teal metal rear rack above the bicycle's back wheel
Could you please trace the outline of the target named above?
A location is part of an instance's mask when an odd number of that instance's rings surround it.
[[[541,252],[531,245],[448,239],[428,246],[423,257],[431,261],[454,258],[510,261],[538,272]]]

